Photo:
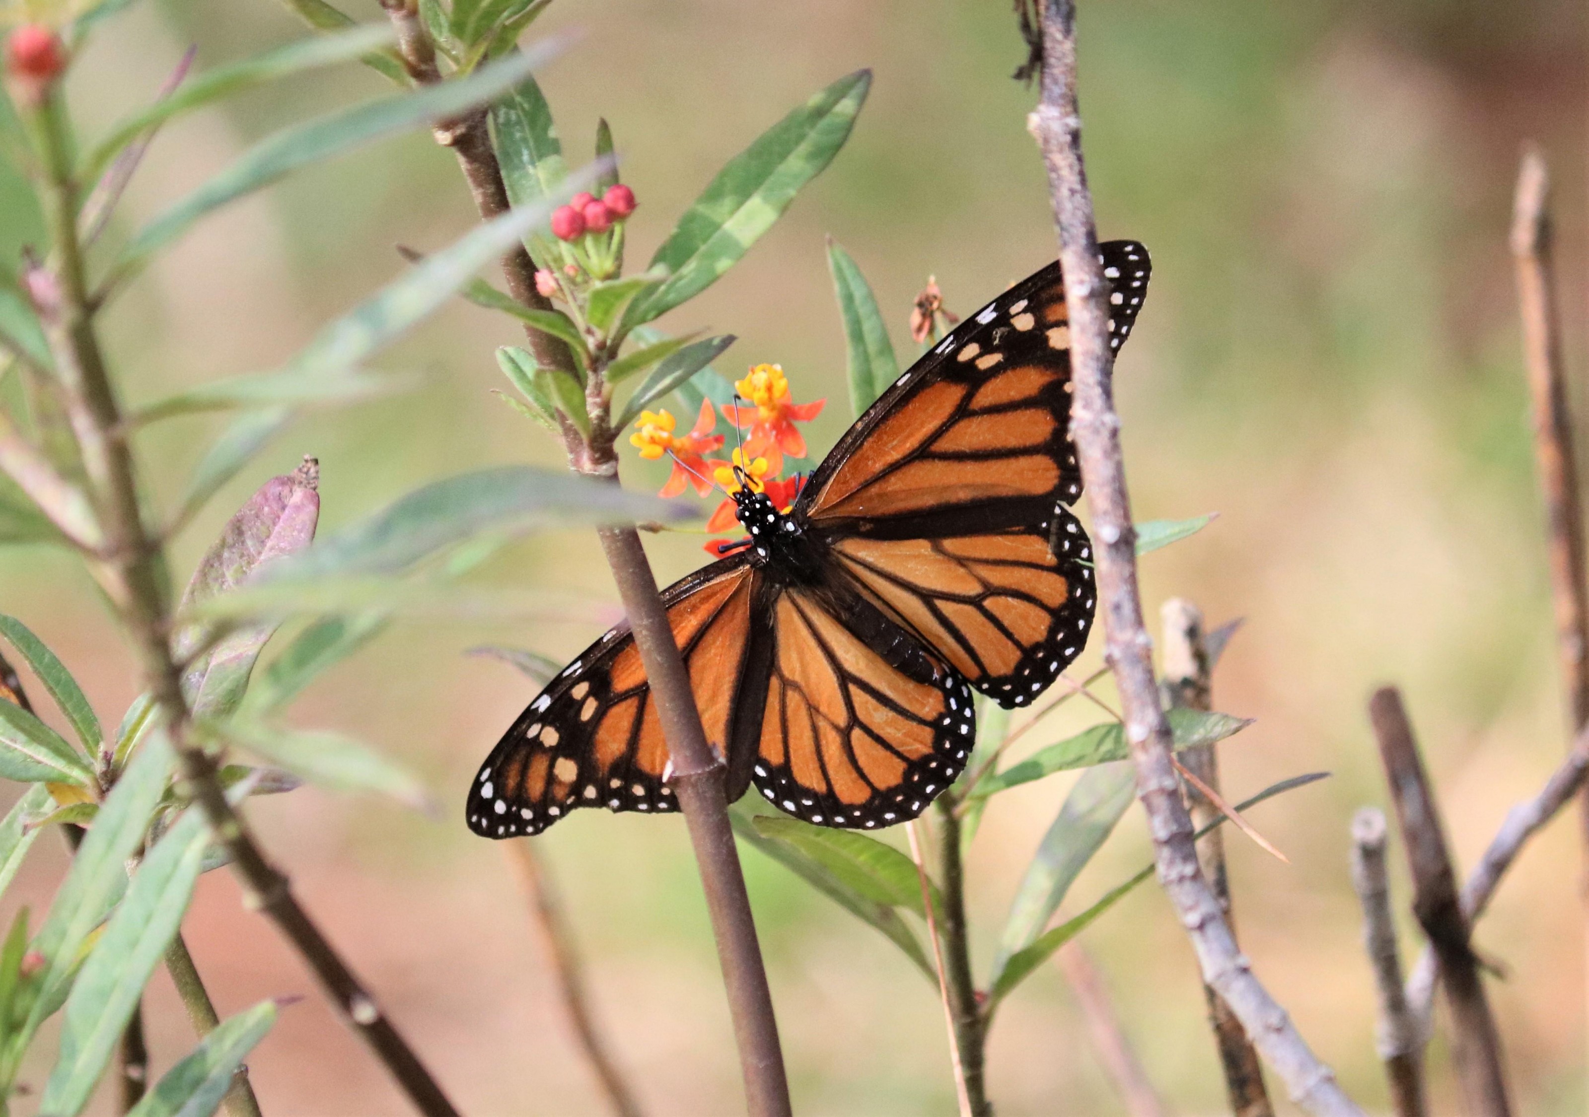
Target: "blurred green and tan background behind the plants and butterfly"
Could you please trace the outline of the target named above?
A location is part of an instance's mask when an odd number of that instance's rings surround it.
[[[356,14],[380,16],[373,3]],[[777,361],[799,399],[826,396],[810,429],[817,448],[847,423],[825,234],[866,270],[901,353],[928,273],[949,307],[966,311],[1052,259],[1046,184],[1025,132],[1034,94],[1009,79],[1023,48],[1007,3],[558,0],[532,33],[551,30],[580,38],[542,84],[570,156],[590,149],[597,116],[612,122],[640,199],[634,261],[790,106],[849,70],[876,70],[833,167],[729,281],[664,323],[737,334],[723,372]],[[189,43],[205,67],[303,33],[273,0],[145,0],[75,68],[75,108],[103,127],[151,97]],[[1144,561],[1147,607],[1157,615],[1179,594],[1211,623],[1246,618],[1216,678],[1219,709],[1257,718],[1224,747],[1233,799],[1301,771],[1335,774],[1254,810],[1290,864],[1239,837],[1227,847],[1258,974],[1371,1107],[1386,1095],[1346,833],[1357,806],[1384,802],[1363,712],[1370,688],[1405,686],[1463,864],[1562,752],[1505,237],[1519,148],[1533,138],[1559,184],[1562,305],[1581,369],[1584,43],[1583,8],[1565,0],[1082,3],[1100,232],[1142,240],[1155,264],[1119,365],[1136,515],[1220,513]],[[186,119],[156,143],[122,219],[151,216],[273,127],[385,89],[350,67]],[[6,207],[6,253],[30,237],[16,213]],[[424,135],[234,207],[111,315],[126,397],[270,367],[397,273],[397,245],[434,249],[474,219],[451,156]],[[505,386],[493,348],[515,340],[513,326],[486,311],[439,315],[385,359],[423,373],[423,388],[313,416],[278,440],[180,540],[180,577],[227,510],[303,453],[321,459],[324,529],[443,473],[558,464],[559,448],[491,394]],[[167,501],[211,429],[183,419],[143,440]],[[637,488],[661,481],[634,467],[628,477]],[[659,577],[704,561],[699,542],[653,540]],[[488,574],[615,599],[588,532],[524,543]],[[86,577],[57,555],[6,551],[0,610],[52,644],[102,717],[119,717],[133,696],[129,658]],[[426,772],[445,818],[315,790],[251,809],[310,910],[472,1114],[597,1112],[601,1100],[504,852],[469,836],[459,817],[466,782],[534,686],[462,651],[504,642],[572,655],[602,624],[593,610],[583,626],[399,626],[299,705],[305,725],[354,731]],[[1096,661],[1093,648],[1081,669]],[[1084,725],[1092,715],[1079,707],[1023,740],[1036,747]],[[969,869],[979,963],[1068,782],[1025,787],[988,814]],[[1508,971],[1494,1001],[1519,1109],[1530,1114],[1586,1103],[1576,833],[1562,820],[1530,847],[1478,933]],[[647,1111],[734,1112],[737,1065],[682,820],[580,812],[537,841]],[[1147,856],[1133,809],[1069,907]],[[62,861],[54,842],[40,844],[10,901],[48,899]],[[796,1109],[950,1112],[936,991],[779,866],[747,853],[745,868]],[[1405,907],[1400,872],[1397,883]],[[1405,930],[1411,960],[1409,918]],[[189,931],[222,1014],[267,995],[308,995],[251,1060],[267,1112],[407,1112],[272,928],[240,910],[224,874],[202,882]],[[1219,1112],[1195,961],[1162,895],[1139,890],[1084,942],[1162,1093],[1179,1112]],[[149,1028],[157,1065],[186,1050],[164,974]],[[1438,1044],[1433,1068],[1436,1111],[1448,1111],[1456,1098]],[[1003,1009],[988,1073],[1001,1114],[1120,1112],[1054,968]]]

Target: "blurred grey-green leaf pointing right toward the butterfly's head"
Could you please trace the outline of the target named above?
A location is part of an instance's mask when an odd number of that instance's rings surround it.
[[[485,534],[580,523],[679,521],[690,515],[686,505],[624,493],[566,470],[502,466],[426,485],[303,555],[273,564],[265,580],[396,574]]]

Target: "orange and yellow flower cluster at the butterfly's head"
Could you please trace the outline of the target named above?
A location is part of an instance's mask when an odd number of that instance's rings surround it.
[[[766,493],[779,512],[788,512],[794,505],[806,478],[798,473],[779,477],[783,458],[806,456],[806,437],[794,424],[817,418],[826,402],[818,399],[812,404],[796,404],[783,369],[775,364],[755,365],[744,380],[736,381],[734,388],[750,404],[745,405],[740,399],[726,404],[723,418],[736,427],[747,429],[748,435],[745,445],[729,454],[729,461],[706,458],[723,445],[723,435],[712,432],[717,415],[710,400],[701,402],[701,415],[690,434],[675,435],[677,419],[666,410],[658,410],[640,412],[629,435],[629,443],[640,451],[640,458],[656,461],[667,454],[674,459],[674,470],[663,486],[663,496],[679,496],[686,485],[699,496],[710,493],[713,483],[721,488],[726,496],[707,520],[707,534],[739,529],[734,494],[742,488]],[[713,558],[721,558],[745,542],[717,539],[707,543],[706,550]]]

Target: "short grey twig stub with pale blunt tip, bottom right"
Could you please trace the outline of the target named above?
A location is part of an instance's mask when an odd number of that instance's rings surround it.
[[[1352,888],[1363,906],[1363,949],[1379,993],[1378,1047],[1390,1079],[1390,1101],[1397,1117],[1425,1117],[1424,1039],[1401,988],[1386,875],[1386,815],[1378,807],[1363,807],[1352,818]]]

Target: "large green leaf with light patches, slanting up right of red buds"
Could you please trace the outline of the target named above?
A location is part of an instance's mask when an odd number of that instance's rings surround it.
[[[850,138],[871,84],[869,70],[841,78],[734,156],[656,249],[651,264],[672,278],[629,307],[628,324],[667,313],[750,251]]]

